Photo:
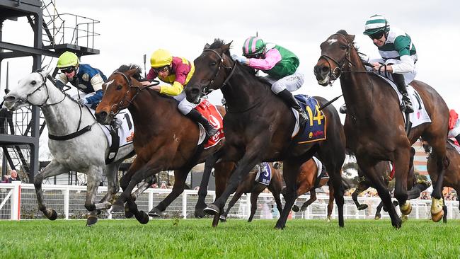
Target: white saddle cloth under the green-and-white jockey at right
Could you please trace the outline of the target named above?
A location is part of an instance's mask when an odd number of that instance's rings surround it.
[[[381,78],[385,79],[393,88],[394,91],[396,91],[396,94],[398,95],[399,103],[402,105],[403,103],[403,95],[398,91],[398,86],[393,83],[390,79],[387,79],[384,76],[379,75]],[[408,95],[410,98],[410,101],[413,104],[414,107],[414,112],[409,114],[409,120],[412,122],[412,127],[417,127],[418,125],[421,125],[422,123],[430,123],[431,119],[430,116],[427,113],[427,110],[425,109],[425,105],[423,104],[422,98],[420,98],[420,95],[418,94],[415,89],[410,86],[408,86]],[[406,117],[406,115],[403,113],[403,116]],[[406,120],[406,118],[405,118]]]

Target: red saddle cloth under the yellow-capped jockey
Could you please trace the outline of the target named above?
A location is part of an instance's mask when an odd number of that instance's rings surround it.
[[[217,133],[214,136],[209,137],[205,144],[205,149],[209,149],[211,146],[215,146],[219,141],[225,138],[224,136],[224,121],[222,115],[217,111],[216,106],[209,103],[206,99],[203,99],[199,105],[195,108],[203,117],[207,118],[212,126],[217,128]]]

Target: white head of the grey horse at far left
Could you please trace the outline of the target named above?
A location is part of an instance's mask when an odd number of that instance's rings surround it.
[[[40,69],[19,80],[18,85],[4,96],[5,107],[8,110],[17,110],[28,105],[45,105],[50,98],[47,87],[50,81],[47,81],[47,76],[52,70],[51,67],[45,71]]]

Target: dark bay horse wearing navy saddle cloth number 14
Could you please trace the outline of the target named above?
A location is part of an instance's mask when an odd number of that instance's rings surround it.
[[[200,57],[195,59],[195,74],[185,88],[187,99],[197,103],[202,94],[220,88],[226,100],[228,112],[224,117],[226,142],[214,161],[236,162],[236,169],[225,191],[205,209],[209,214],[223,212],[226,200],[238,187],[241,179],[261,161],[283,161],[283,177],[286,184],[286,203],[276,223],[284,229],[287,216],[297,199],[297,175],[302,163],[318,151],[318,158],[330,171],[338,205],[339,226],[343,226],[343,190],[340,168],[345,160],[345,134],[335,108],[323,110],[327,118],[326,140],[297,144],[292,141],[296,119],[292,110],[270,91],[270,84],[254,75],[253,69],[234,62],[230,57],[231,43],[214,40],[206,45]],[[318,97],[319,105],[326,99]]]

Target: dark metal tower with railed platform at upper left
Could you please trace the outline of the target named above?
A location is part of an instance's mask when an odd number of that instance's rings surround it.
[[[32,28],[33,47],[4,42],[4,21],[19,23],[25,21],[24,18]],[[96,23],[99,21],[84,16],[57,13],[52,0],[0,0],[0,72],[4,59],[33,57],[32,71],[35,71],[42,67],[45,59],[59,57],[67,50],[79,57],[99,54],[99,50],[93,46],[94,38],[99,35],[94,31]],[[54,75],[56,72],[57,69]],[[1,175],[6,172],[8,163],[12,169],[18,169],[23,181],[33,183],[34,175],[40,168],[38,148],[44,128],[45,121],[40,120],[38,107],[31,106],[14,113],[0,110],[0,147],[3,150]]]

